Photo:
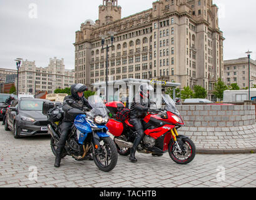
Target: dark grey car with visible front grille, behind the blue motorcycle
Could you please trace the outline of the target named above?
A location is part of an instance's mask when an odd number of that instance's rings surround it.
[[[22,98],[14,100],[6,113],[6,131],[13,131],[14,138],[48,134],[48,119],[43,115],[44,99]]]

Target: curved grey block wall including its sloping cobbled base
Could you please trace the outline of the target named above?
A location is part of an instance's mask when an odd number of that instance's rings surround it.
[[[177,106],[185,121],[179,133],[191,138],[197,153],[256,151],[254,105]]]

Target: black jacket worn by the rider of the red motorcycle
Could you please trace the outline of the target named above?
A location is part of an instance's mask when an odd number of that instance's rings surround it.
[[[135,97],[135,99],[133,99],[133,103],[131,104],[130,118],[143,119],[145,118],[148,109],[150,109],[150,101],[148,99],[142,99],[140,98],[140,95],[138,95]]]

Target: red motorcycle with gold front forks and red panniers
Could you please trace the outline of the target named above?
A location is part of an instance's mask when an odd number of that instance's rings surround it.
[[[195,158],[195,144],[188,137],[178,134],[177,129],[185,126],[185,124],[173,99],[166,94],[162,95],[162,98],[165,108],[150,109],[143,119],[145,136],[137,151],[138,153],[152,153],[156,156],[161,156],[168,151],[175,163],[188,164]],[[110,110],[113,116],[106,126],[108,131],[115,136],[114,141],[118,153],[122,156],[128,156],[130,148],[133,146],[136,130],[130,124],[130,119],[121,121],[120,118],[116,118],[118,113],[125,109],[125,105],[115,101],[107,103],[106,108]]]

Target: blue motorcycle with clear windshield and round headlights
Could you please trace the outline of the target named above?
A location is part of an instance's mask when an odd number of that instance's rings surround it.
[[[72,100],[66,101],[68,104],[74,103]],[[115,168],[118,159],[116,145],[107,134],[108,113],[99,96],[90,96],[88,102],[93,108],[89,112],[86,112],[88,110],[86,108],[84,111],[76,108],[68,111],[69,115],[74,116],[74,125],[66,141],[62,158],[69,155],[77,161],[84,161],[92,154],[96,166],[101,171],[108,172]],[[56,148],[61,135],[60,125],[63,114],[61,106],[53,106],[46,113],[50,123],[48,124],[48,131],[52,136],[51,149],[54,155],[56,155]]]

